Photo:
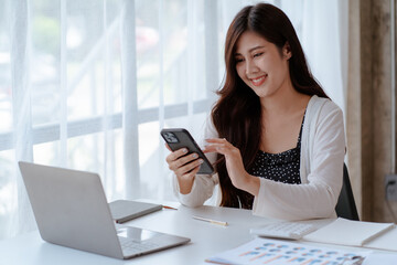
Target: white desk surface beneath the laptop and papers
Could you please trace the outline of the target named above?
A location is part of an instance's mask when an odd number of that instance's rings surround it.
[[[197,221],[192,219],[192,215],[227,221],[228,226]],[[319,225],[330,221],[331,220],[319,221]],[[148,214],[126,224],[186,236],[191,239],[191,243],[146,256],[120,261],[50,244],[40,237],[39,232],[31,232],[12,240],[0,241],[0,264],[206,264],[204,263],[206,257],[253,240],[254,236],[249,234],[249,229],[259,226],[265,222],[269,222],[269,220],[253,216],[251,211],[248,210],[213,206],[201,206],[196,209],[180,206],[179,210],[163,209],[162,211]],[[316,243],[303,244],[363,251],[363,248],[356,247]]]

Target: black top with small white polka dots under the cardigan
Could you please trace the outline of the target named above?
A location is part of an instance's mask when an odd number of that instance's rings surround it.
[[[300,150],[304,116],[299,131],[297,147],[280,153],[268,153],[259,150],[255,157],[250,174],[269,180],[300,184]]]

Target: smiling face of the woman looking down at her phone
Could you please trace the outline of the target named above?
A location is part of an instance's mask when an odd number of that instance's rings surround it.
[[[280,51],[253,31],[244,32],[236,43],[237,74],[260,98],[292,87],[288,64],[290,57],[288,44]]]

